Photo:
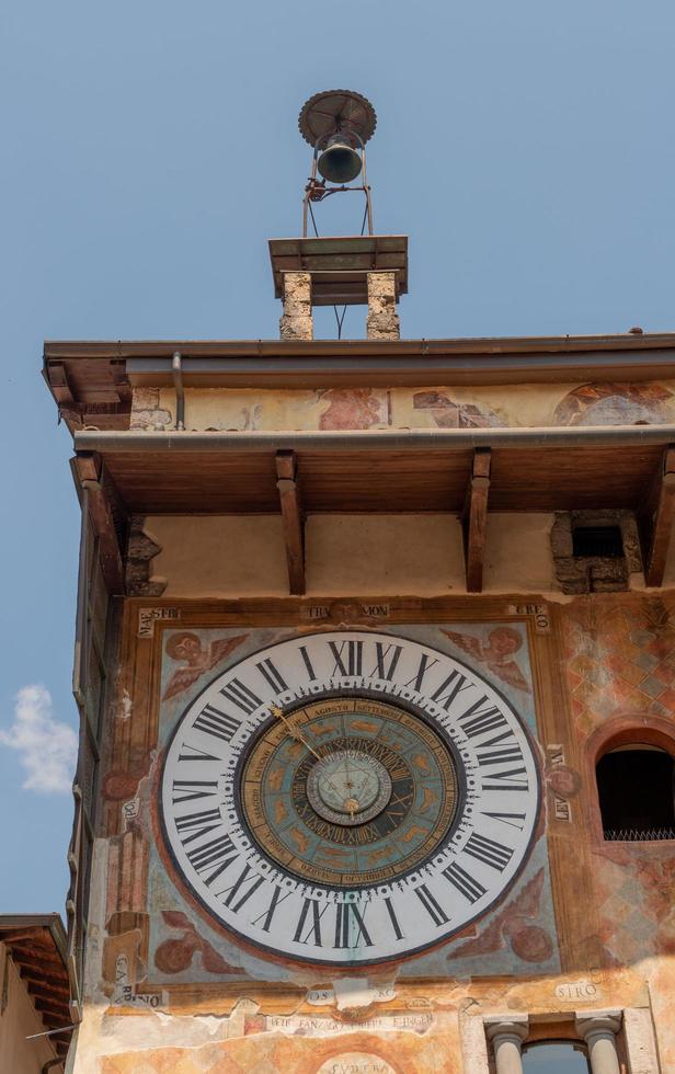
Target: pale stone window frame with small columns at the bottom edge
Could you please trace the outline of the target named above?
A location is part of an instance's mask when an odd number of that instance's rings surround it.
[[[523,1074],[525,1044],[585,1043],[592,1074],[650,1071],[660,1074],[649,1007],[595,1007],[528,1014],[517,1010],[469,1015],[462,1021],[465,1074]]]

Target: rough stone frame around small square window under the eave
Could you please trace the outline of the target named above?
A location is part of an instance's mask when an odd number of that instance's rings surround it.
[[[574,556],[573,533],[579,526],[617,526],[623,555]],[[638,522],[634,512],[622,507],[556,512],[551,552],[558,584],[569,595],[623,593],[630,589],[632,574],[643,574]]]

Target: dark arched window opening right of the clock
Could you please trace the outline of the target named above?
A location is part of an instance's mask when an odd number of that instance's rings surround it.
[[[603,833],[609,841],[675,839],[675,762],[657,746],[630,743],[597,763]]]

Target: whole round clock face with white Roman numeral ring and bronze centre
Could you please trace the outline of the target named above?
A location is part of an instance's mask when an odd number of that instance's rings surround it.
[[[206,911],[284,958],[400,959],[483,914],[527,856],[528,735],[473,671],[393,635],[272,645],[168,746],[168,848]]]

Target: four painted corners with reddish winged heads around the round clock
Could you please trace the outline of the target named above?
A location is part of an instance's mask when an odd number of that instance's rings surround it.
[[[401,633],[401,628],[388,628]],[[522,624],[464,624],[453,629],[408,626],[407,636],[450,653],[507,695],[534,732],[531,673]],[[195,629],[164,635],[160,710],[160,749],[190,699],[206,682],[249,652],[287,637],[287,631]],[[176,671],[176,661],[181,666]],[[176,677],[178,676],[178,677]],[[148,806],[151,803],[148,802]],[[150,942],[148,980],[162,982],[217,980],[220,975],[256,980],[293,980],[306,973],[289,964],[271,963],[254,949],[242,949],[215,926],[172,880],[167,856],[155,837],[149,843]],[[546,841],[541,836],[506,900],[485,919],[437,951],[410,959],[398,969],[401,976],[453,973],[480,974],[542,971],[558,967]]]

